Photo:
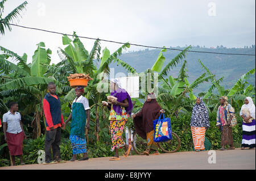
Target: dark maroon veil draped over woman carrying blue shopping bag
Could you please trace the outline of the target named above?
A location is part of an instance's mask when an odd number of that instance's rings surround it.
[[[148,95],[153,95],[152,93]],[[153,121],[158,119],[158,113],[161,110],[160,105],[156,102],[156,99],[151,99],[150,102],[146,102],[143,104],[142,110],[137,113],[137,116],[134,118],[134,128],[136,132],[142,138],[146,139],[148,132],[151,132],[153,127]]]

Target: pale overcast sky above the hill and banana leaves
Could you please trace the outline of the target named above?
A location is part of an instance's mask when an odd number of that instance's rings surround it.
[[[3,16],[24,1],[9,0]],[[159,47],[200,45],[244,47],[255,44],[255,0],[164,1],[164,0],[27,0],[22,26],[79,36]],[[0,36],[0,45],[31,62],[36,44],[52,50],[52,62],[60,61],[57,48],[64,48],[61,35],[13,27]],[[90,51],[94,40],[81,39]],[[121,45],[101,41],[110,53]],[[141,47],[131,46],[129,50]]]

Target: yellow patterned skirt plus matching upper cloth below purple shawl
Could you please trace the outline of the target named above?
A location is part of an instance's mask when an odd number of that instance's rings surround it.
[[[114,151],[115,148],[119,149],[122,146],[125,146],[125,142],[122,138],[123,129],[125,128],[125,121],[127,121],[126,110],[122,107],[122,115],[117,115],[113,110],[113,105],[110,111],[110,133],[112,140],[111,151]]]

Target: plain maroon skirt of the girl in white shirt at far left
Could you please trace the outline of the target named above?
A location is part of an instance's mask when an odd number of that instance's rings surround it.
[[[17,134],[6,132],[6,136],[8,138],[8,148],[10,150],[11,155],[22,155],[23,154],[23,140],[24,140],[24,132],[20,132]]]

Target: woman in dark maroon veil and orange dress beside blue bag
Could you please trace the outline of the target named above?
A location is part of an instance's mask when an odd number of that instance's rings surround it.
[[[164,112],[164,110],[156,102],[155,95],[150,93],[147,95],[147,100],[143,104],[141,112],[133,115],[136,132],[143,139],[147,139],[147,149],[143,152],[146,155],[149,155],[150,150],[155,150],[154,154],[159,154],[158,145],[154,141],[153,121],[158,119],[160,112]]]

